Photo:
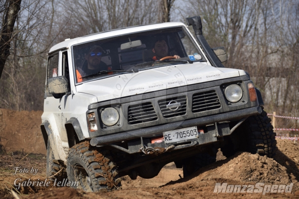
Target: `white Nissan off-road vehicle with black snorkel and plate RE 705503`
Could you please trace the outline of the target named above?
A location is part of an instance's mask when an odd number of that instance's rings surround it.
[[[184,177],[237,150],[277,150],[261,93],[243,70],[225,68],[199,16],[87,35],[48,54],[41,132],[47,175],[90,192],[121,177],[153,178],[174,162]]]

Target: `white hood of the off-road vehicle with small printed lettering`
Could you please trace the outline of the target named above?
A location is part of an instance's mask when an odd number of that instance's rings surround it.
[[[171,65],[138,73],[123,74],[86,82],[76,87],[77,92],[97,97],[97,101],[149,93],[186,85],[246,75],[243,70],[215,68],[205,63]]]

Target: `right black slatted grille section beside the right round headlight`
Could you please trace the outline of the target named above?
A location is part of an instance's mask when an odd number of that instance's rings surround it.
[[[220,108],[221,104],[216,91],[197,93],[192,96],[192,112],[202,112]]]

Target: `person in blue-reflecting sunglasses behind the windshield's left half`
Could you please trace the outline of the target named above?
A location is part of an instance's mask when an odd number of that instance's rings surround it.
[[[81,68],[77,68],[77,82],[83,81],[82,77],[95,74],[100,71],[111,70],[104,62],[101,61],[103,48],[101,46],[92,46],[85,55],[85,61]]]

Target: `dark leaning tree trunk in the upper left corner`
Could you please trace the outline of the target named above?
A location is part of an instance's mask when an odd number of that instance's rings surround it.
[[[0,78],[6,59],[9,56],[11,35],[17,13],[20,10],[20,4],[21,0],[6,0],[5,2],[6,10],[0,33]]]

